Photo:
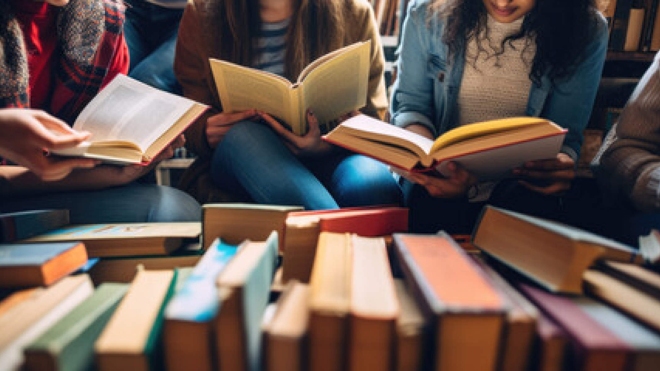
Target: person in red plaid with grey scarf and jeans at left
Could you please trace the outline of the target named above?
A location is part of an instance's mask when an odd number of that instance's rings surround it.
[[[123,6],[114,0],[0,2],[0,108],[40,109],[72,123],[102,86],[127,72],[122,24]],[[182,145],[180,138],[160,159]],[[187,194],[134,183],[150,167],[79,165],[49,173],[59,179],[49,182],[22,166],[0,166],[0,212],[63,208],[72,223],[200,217]]]

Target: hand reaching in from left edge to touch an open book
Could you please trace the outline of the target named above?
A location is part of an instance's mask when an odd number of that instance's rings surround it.
[[[0,156],[27,167],[43,181],[58,181],[77,167],[94,167],[93,159],[59,159],[44,156],[44,150],[59,150],[81,144],[88,133],[76,132],[44,111],[0,109]]]

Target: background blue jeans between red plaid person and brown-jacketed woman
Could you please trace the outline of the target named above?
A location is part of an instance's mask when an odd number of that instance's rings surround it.
[[[145,0],[125,2],[129,76],[154,88],[181,94],[174,76],[174,49],[183,9],[168,9]]]

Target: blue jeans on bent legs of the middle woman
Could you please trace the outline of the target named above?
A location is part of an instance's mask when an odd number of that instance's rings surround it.
[[[237,123],[222,138],[211,177],[259,204],[325,210],[401,203],[401,190],[383,163],[346,151],[300,159],[270,127],[251,121]]]

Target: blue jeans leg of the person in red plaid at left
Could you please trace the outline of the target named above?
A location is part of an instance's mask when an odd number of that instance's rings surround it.
[[[1,212],[69,209],[72,224],[199,221],[201,208],[184,192],[159,185],[133,183],[103,190],[84,190],[0,200]]]

